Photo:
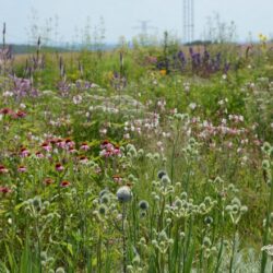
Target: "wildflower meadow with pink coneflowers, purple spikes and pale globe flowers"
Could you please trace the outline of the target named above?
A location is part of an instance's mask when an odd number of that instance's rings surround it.
[[[1,273],[272,272],[266,37],[3,39],[0,69]]]

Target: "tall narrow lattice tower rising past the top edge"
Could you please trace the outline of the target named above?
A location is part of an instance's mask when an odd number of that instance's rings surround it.
[[[194,0],[183,0],[183,43],[194,39]]]

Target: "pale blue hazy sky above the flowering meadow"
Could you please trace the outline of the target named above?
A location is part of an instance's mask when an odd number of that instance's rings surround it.
[[[103,17],[107,43],[117,43],[120,36],[130,40],[141,29],[140,21],[149,21],[150,34],[168,31],[182,37],[183,0],[0,0],[0,24],[7,23],[8,43],[28,43],[31,29],[45,33],[46,21],[52,17],[51,39],[80,41],[82,29],[99,25]],[[236,25],[238,40],[252,39],[260,33],[273,36],[273,0],[194,0],[194,38],[202,39],[209,32],[207,21]],[[56,16],[58,24],[56,24]],[[56,27],[58,25],[58,27]],[[0,26],[1,27],[1,26]],[[44,29],[44,31],[43,31]],[[35,32],[34,32],[35,33]],[[43,34],[41,34],[43,35]]]

